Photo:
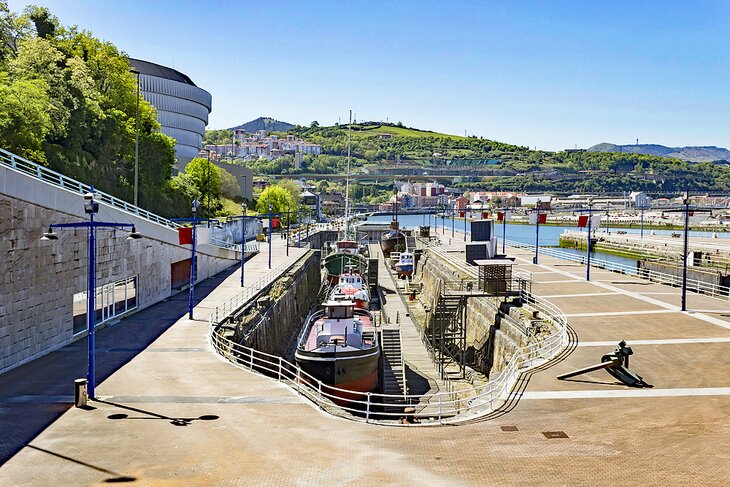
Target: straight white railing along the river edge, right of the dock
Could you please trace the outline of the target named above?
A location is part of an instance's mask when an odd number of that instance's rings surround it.
[[[513,240],[505,241],[508,246],[521,249],[535,250],[535,246],[522,242],[516,242]],[[585,255],[572,254],[570,252],[564,252],[553,247],[540,247],[540,253],[543,255],[549,255],[562,260],[570,262],[577,262],[580,264],[586,263]],[[668,286],[681,286],[682,278],[680,276],[674,276],[665,272],[658,272],[651,269],[638,269],[630,265],[621,264],[619,262],[611,262],[608,260],[597,259],[591,256],[591,267],[598,269],[604,269],[607,271],[617,272],[619,274],[627,274],[634,277],[648,279],[652,282],[659,284],[666,284]],[[720,284],[713,284],[708,282],[699,281],[697,279],[687,278],[687,290],[694,291],[698,294],[705,294],[713,298],[728,299],[730,296],[730,288],[722,286]]]

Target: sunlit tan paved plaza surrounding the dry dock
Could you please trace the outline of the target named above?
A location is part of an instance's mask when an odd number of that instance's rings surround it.
[[[578,343],[525,374],[516,400],[490,417],[434,428],[333,418],[220,360],[205,323],[184,317],[99,386],[104,402],[69,409],[32,438],[0,468],[0,484],[730,484],[730,303],[692,294],[690,308],[709,311],[682,313],[657,294],[677,289],[598,270],[586,283],[580,267],[514,254],[534,291],[560,302]],[[249,268],[264,271],[266,258]],[[654,389],[603,371],[555,379],[621,338],[636,341],[631,368]]]

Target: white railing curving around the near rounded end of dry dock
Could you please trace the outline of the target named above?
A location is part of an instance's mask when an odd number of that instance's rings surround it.
[[[216,351],[236,366],[273,377],[330,413],[346,413],[345,417],[355,421],[399,425],[401,423],[398,420],[404,413],[389,412],[385,408],[392,408],[394,403],[405,401],[404,406],[416,408],[419,419],[416,425],[454,424],[497,409],[509,398],[521,373],[551,360],[567,346],[565,315],[536,296],[525,298],[528,307],[545,315],[552,324],[552,333],[516,351],[506,361],[506,368],[489,382],[462,391],[424,395],[374,392],[353,394],[350,390],[323,383],[280,356],[260,352],[223,337],[221,329],[215,326],[217,323],[213,323],[210,338]]]

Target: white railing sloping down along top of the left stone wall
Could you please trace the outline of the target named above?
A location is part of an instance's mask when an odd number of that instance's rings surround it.
[[[48,169],[47,167],[43,167],[40,164],[37,164],[35,162],[31,162],[28,159],[17,156],[15,154],[13,154],[12,152],[8,152],[4,149],[0,149],[0,164],[3,166],[9,167],[11,169],[14,169],[18,172],[22,172],[23,174],[32,176],[40,181],[44,181],[46,183],[57,186],[59,188],[63,188],[68,191],[72,191],[74,193],[86,194],[89,191],[91,191],[91,186],[89,186],[88,184],[84,184],[73,178],[64,176],[61,173],[58,173],[52,169]],[[167,218],[163,218],[159,215],[151,213],[138,206],[134,206],[130,203],[127,203],[124,200],[117,198],[116,196],[112,196],[108,193],[104,193],[103,191],[94,189],[94,195],[95,195],[97,201],[105,203],[118,210],[132,213],[134,215],[139,216],[140,218],[144,218],[146,220],[149,220],[154,223],[158,223],[160,225],[164,225],[164,226],[170,227],[170,228],[178,228],[180,226],[180,224],[178,224],[176,222],[173,222],[171,220],[168,220]]]

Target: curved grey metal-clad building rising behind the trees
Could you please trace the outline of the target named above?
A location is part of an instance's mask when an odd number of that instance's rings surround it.
[[[142,96],[157,108],[162,132],[177,141],[177,166],[183,169],[203,146],[210,93],[175,69],[140,59],[130,58],[129,63],[139,72]]]

